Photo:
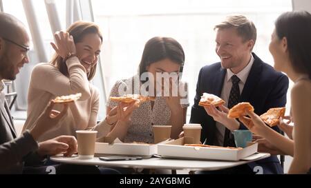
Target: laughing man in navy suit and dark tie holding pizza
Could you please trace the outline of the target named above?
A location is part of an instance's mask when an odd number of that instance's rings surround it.
[[[200,70],[190,123],[202,125],[202,143],[206,139],[208,145],[234,146],[232,132],[247,128],[236,119],[227,118],[228,107],[249,102],[254,106],[256,114],[263,114],[271,107],[285,107],[288,77],[263,63],[252,52],[256,42],[256,28],[246,17],[227,17],[215,26],[215,30],[216,53],[220,62]],[[199,106],[200,96],[204,92],[223,98],[226,106],[218,109],[214,106]],[[278,127],[274,129],[279,131]],[[221,173],[252,174],[258,167],[263,169],[264,174],[283,173],[276,156],[226,169]]]

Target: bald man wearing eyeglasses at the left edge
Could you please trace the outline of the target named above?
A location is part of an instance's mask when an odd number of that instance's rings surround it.
[[[29,37],[23,23],[10,14],[0,12],[0,28],[0,174],[21,174],[26,172],[25,164],[38,165],[45,156],[75,154],[77,140],[73,136],[59,136],[37,143],[39,135],[54,127],[66,114],[67,105],[62,112],[55,112],[53,102],[37,119],[37,124],[42,125],[17,137],[3,92],[3,79],[15,80],[21,67],[29,63]],[[32,169],[32,172],[35,173],[35,170]]]

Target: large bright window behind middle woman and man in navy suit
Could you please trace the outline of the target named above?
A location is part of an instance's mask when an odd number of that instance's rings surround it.
[[[138,70],[144,43],[153,36],[170,36],[185,50],[183,80],[189,83],[189,103],[194,103],[198,72],[219,61],[214,25],[228,14],[243,14],[254,21],[258,37],[254,52],[273,65],[268,50],[274,20],[292,10],[291,0],[93,0],[95,22],[104,32],[102,66],[106,92],[115,81]],[[190,113],[188,109],[188,114]]]

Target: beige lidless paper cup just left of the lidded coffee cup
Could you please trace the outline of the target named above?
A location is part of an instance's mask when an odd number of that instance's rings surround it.
[[[184,129],[185,139],[191,140],[191,142],[193,142],[187,144],[200,144],[202,129],[202,126],[200,124],[185,124],[184,126],[182,126],[182,129]]]

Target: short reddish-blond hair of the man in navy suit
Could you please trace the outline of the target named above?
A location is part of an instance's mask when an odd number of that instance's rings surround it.
[[[236,28],[238,35],[242,37],[243,41],[253,40],[256,43],[257,31],[254,23],[242,15],[233,15],[226,17],[224,21],[215,25],[214,30]]]

